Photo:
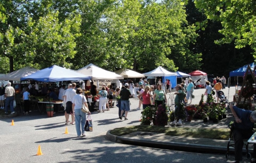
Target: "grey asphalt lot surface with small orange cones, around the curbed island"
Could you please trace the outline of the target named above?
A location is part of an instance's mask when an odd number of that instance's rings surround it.
[[[205,89],[196,89],[192,104],[198,104],[200,96]],[[228,89],[223,92],[228,95]],[[229,99],[233,100],[234,87],[230,89]],[[170,93],[169,93],[170,94]],[[170,95],[167,95],[167,97]],[[168,97],[169,98],[169,97]],[[170,96],[168,102],[171,104],[173,96]],[[86,137],[77,138],[74,125],[64,125],[64,113],[55,114],[54,117],[48,118],[46,114],[40,115],[38,111],[30,111],[30,115],[19,115],[14,118],[0,119],[0,163],[225,163],[232,162],[234,156],[230,155],[230,159],[226,161],[225,155],[198,152],[180,152],[173,150],[156,149],[148,147],[140,147],[136,145],[127,145],[114,143],[106,139],[108,131],[123,126],[140,125],[139,119],[141,111],[137,111],[138,100],[130,99],[131,111],[128,113],[128,120],[120,120],[118,118],[118,108],[111,108],[110,111],[104,113],[93,112],[93,132],[86,132]],[[15,126],[11,126],[11,120],[14,120]],[[226,120],[227,121],[227,120]],[[183,126],[193,127],[218,127],[226,128],[226,122],[213,124],[208,122],[204,124],[202,121],[184,122]],[[65,134],[65,129],[68,134]],[[124,138],[129,138],[127,135]],[[134,137],[138,140],[157,141],[156,138],[150,140],[150,135],[134,133]],[[183,140],[179,137],[166,138],[164,144],[175,143],[179,140],[179,144],[186,148],[191,142],[200,142],[207,145],[209,141],[202,139],[188,138]],[[175,140],[175,141],[174,141]],[[186,140],[186,141],[184,141]],[[219,142],[217,142],[218,144]],[[225,142],[223,142],[225,144]],[[43,155],[36,156],[38,146],[41,146]],[[221,146],[221,145],[219,145]],[[209,147],[211,148],[211,147]],[[244,163],[249,162],[244,160]]]

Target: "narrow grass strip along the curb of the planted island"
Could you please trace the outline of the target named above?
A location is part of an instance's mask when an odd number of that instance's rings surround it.
[[[117,136],[134,133],[137,131],[165,133],[168,136],[182,136],[182,137],[197,137],[197,138],[210,138],[219,140],[228,140],[229,130],[227,129],[207,129],[196,127],[162,127],[162,126],[127,126],[111,130],[110,133]]]

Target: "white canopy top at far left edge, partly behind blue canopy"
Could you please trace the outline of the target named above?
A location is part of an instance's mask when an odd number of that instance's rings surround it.
[[[12,81],[20,81],[20,78],[24,78],[30,74],[33,74],[39,70],[34,69],[32,67],[24,67],[20,70],[13,71],[9,74],[5,74],[0,76],[0,80],[12,80]]]

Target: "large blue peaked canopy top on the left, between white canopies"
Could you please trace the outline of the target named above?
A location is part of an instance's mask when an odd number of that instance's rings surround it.
[[[85,76],[74,70],[69,70],[63,67],[53,65],[51,67],[39,70],[33,74],[20,79],[36,80],[42,82],[69,81],[69,80],[90,80],[89,76]]]

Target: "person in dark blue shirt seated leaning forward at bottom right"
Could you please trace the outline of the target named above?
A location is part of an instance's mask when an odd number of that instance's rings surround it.
[[[235,142],[235,163],[242,160],[243,139],[249,139],[254,133],[253,126],[256,122],[256,111],[244,110],[234,105],[230,105],[230,110],[234,115],[235,122],[233,126],[233,136]],[[251,163],[256,163],[256,147],[253,144],[253,153]]]

